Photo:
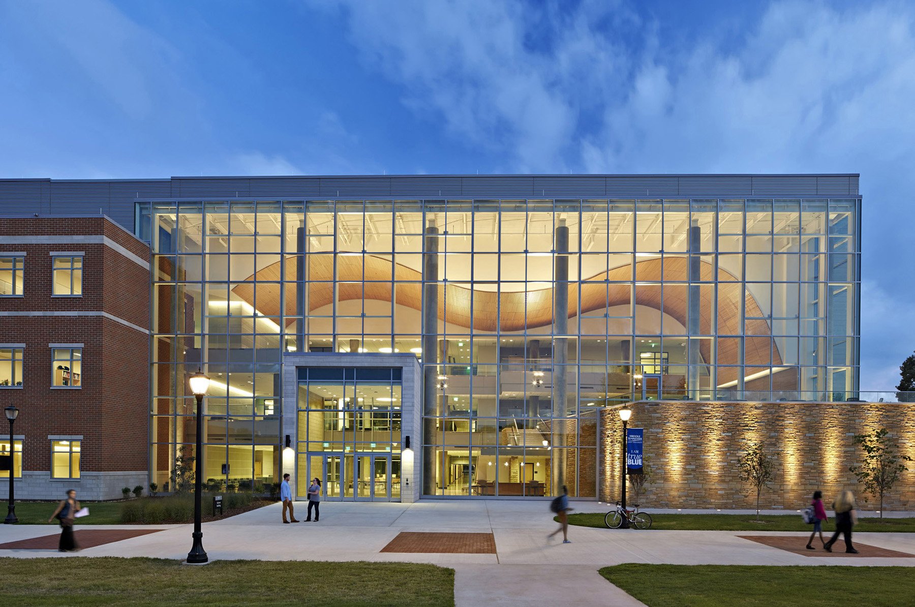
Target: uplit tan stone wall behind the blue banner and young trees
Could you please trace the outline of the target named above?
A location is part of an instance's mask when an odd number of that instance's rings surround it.
[[[850,489],[864,510],[877,500],[862,492],[848,467],[858,461],[855,434],[887,428],[901,452],[915,457],[915,406],[908,403],[641,402],[630,405],[630,428],[644,428],[651,483],[646,508],[752,508],[755,491],[739,481],[737,461],[761,441],[776,457],[775,480],[760,507],[797,510],[813,491],[830,504]],[[600,500],[619,500],[622,423],[617,410],[600,417]],[[885,498],[886,510],[915,509],[915,465]],[[627,498],[632,504],[631,485]],[[752,495],[750,494],[752,492]],[[865,498],[867,497],[867,502]]]

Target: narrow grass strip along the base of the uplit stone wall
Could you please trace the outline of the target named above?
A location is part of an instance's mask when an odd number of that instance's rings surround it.
[[[651,514],[651,511],[647,511]],[[604,515],[575,514],[569,515],[569,525],[586,527],[601,527],[604,525]],[[554,519],[555,520],[555,519]],[[651,515],[652,529],[679,529],[696,531],[813,531],[813,525],[805,525],[801,515],[761,515],[756,522],[756,515]],[[826,530],[834,530],[834,519],[823,526]],[[856,533],[866,531],[901,531],[915,532],[915,518],[860,518],[855,526]]]

